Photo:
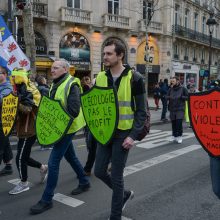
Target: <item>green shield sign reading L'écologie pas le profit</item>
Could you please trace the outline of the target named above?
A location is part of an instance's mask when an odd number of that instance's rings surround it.
[[[118,124],[116,97],[113,88],[97,86],[81,95],[87,126],[94,138],[102,145],[109,143]]]

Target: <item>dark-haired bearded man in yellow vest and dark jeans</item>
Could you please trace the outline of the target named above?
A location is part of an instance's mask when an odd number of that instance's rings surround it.
[[[130,67],[122,64],[124,45],[118,40],[109,40],[104,46],[104,64],[107,71],[100,72],[96,85],[113,86],[117,91],[119,122],[110,144],[98,144],[95,175],[113,191],[110,220],[121,220],[122,210],[133,191],[124,190],[123,171],[129,149],[141,133],[146,120],[146,93],[143,78],[132,73]],[[108,132],[108,131],[106,131]],[[111,175],[107,172],[111,162]]]

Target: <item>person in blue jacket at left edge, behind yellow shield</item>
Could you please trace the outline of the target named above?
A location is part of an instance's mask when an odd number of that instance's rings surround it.
[[[10,82],[7,80],[8,72],[6,68],[0,66],[0,115],[2,114],[2,99],[9,95],[13,88]],[[5,167],[0,171],[0,176],[10,175],[13,172],[12,169],[13,153],[9,142],[9,136],[5,136],[2,128],[2,121],[0,117],[0,165],[2,161]]]

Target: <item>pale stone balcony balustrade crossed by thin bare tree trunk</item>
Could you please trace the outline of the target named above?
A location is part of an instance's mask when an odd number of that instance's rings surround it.
[[[138,21],[139,31],[146,32],[146,19],[142,19]],[[151,21],[148,27],[148,32],[150,33],[163,33],[163,24],[161,22]]]

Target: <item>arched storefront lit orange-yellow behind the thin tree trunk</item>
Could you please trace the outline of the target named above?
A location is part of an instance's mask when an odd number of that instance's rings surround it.
[[[148,66],[148,94],[153,94],[154,85],[158,82],[160,74],[160,65],[159,65],[159,48],[157,45],[156,38],[150,36],[148,42],[148,54],[149,59],[147,62]],[[146,72],[146,61],[144,57],[146,55],[146,41],[142,42],[137,50],[136,57],[136,69],[141,74]]]

